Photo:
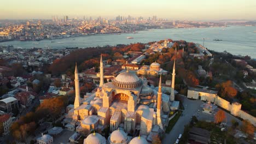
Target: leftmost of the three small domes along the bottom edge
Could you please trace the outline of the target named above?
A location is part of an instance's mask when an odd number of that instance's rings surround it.
[[[105,137],[103,137],[102,135],[98,134],[98,133],[92,133],[90,135],[88,135],[86,137],[86,139],[84,139],[84,144],[105,144],[106,143],[106,139]]]

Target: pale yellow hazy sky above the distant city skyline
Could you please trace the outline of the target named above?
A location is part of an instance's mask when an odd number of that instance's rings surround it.
[[[256,0],[3,0],[0,19],[142,16],[169,20],[256,20]]]

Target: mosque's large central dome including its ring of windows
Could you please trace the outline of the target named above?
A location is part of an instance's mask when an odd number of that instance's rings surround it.
[[[136,74],[125,71],[115,77],[113,84],[121,88],[136,88],[142,85],[142,80]]]

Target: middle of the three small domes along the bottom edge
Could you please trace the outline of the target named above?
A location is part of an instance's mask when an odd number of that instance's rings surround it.
[[[113,143],[124,143],[127,141],[127,134],[123,130],[115,130],[110,135],[110,141]]]

